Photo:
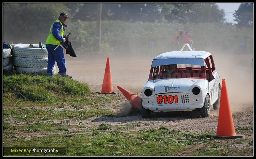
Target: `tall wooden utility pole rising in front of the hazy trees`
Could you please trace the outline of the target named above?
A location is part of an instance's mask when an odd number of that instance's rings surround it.
[[[96,51],[100,52],[100,39],[101,39],[101,10],[102,4],[97,4],[97,26],[96,26]]]

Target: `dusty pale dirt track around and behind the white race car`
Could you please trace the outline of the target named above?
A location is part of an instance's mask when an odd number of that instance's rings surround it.
[[[201,118],[199,112],[165,112],[153,113],[155,118],[143,119],[140,114],[122,116],[130,109],[130,105],[123,94],[117,89],[117,85],[137,94],[141,97],[141,90],[148,80],[148,74],[154,57],[126,57],[109,56],[114,97],[122,98],[116,101],[121,109],[114,110],[120,116],[92,118],[83,121],[83,125],[99,125],[100,122],[108,124],[126,124],[142,122],[138,128],[151,128],[166,126],[170,129],[203,133],[205,130],[217,130],[218,111],[211,110],[210,117]],[[253,127],[253,104],[252,104],[252,63],[251,55],[220,55],[213,54],[215,66],[220,74],[220,79],[226,79],[231,110],[235,128]],[[67,73],[73,79],[87,82],[92,92],[100,92],[106,66],[107,56],[83,56],[77,58],[66,56]],[[104,107],[112,107],[106,105]],[[76,122],[73,124],[77,124]],[[81,124],[81,123],[80,123]]]

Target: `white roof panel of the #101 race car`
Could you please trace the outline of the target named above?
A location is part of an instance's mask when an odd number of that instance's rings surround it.
[[[211,53],[206,51],[170,51],[160,54],[155,59],[172,59],[172,58],[199,58],[205,59],[210,56]]]

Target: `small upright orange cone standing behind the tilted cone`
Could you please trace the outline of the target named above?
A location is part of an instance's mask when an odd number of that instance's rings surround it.
[[[109,57],[107,58],[106,69],[105,69],[105,74],[104,74],[104,78],[103,78],[101,93],[115,94],[114,90],[113,90],[113,85],[112,85],[112,77],[111,77]]]

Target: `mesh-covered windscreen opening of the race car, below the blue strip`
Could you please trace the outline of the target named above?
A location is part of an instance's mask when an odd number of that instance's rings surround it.
[[[205,79],[205,66],[192,64],[166,64],[151,67],[148,80],[167,78]]]

